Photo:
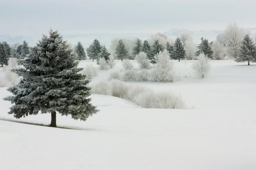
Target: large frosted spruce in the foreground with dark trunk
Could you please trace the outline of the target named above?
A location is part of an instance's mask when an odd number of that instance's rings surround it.
[[[18,119],[37,115],[39,111],[51,113],[51,127],[56,127],[56,112],[86,121],[99,111],[87,98],[91,94],[85,86],[89,81],[78,73],[83,69],[77,68],[79,61],[75,61],[76,56],[66,41],[57,31],[49,33],[50,36],[43,35],[28,58],[23,59],[25,69],[13,70],[23,78],[7,89],[14,94],[4,98],[14,103],[8,113]]]

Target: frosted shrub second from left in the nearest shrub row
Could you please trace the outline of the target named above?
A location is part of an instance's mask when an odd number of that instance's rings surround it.
[[[110,85],[111,85],[112,96],[119,97],[122,99],[126,98],[129,87],[125,85],[124,82],[113,79],[110,81]]]

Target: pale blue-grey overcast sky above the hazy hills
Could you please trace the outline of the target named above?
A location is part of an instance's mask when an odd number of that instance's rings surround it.
[[[1,0],[0,35],[256,27],[256,0]]]

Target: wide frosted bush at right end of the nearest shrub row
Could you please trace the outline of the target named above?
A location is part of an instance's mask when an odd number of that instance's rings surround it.
[[[140,93],[135,102],[142,108],[185,109],[183,98],[173,91],[145,91]]]

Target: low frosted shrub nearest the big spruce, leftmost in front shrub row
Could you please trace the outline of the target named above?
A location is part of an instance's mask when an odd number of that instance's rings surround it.
[[[110,84],[104,80],[96,84],[92,84],[91,88],[92,88],[91,90],[92,94],[103,94],[103,95],[111,94]]]

